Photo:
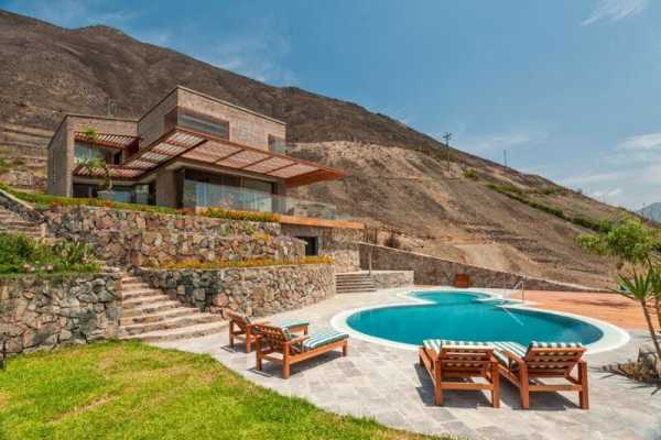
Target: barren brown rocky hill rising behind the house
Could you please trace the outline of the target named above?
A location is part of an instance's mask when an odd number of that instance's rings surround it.
[[[13,173],[8,178],[23,186],[39,185],[47,133],[64,113],[106,114],[111,101],[115,116],[140,116],[178,84],[288,122],[291,154],[350,173],[299,194],[392,231],[383,241],[500,270],[608,283],[609,262],[574,243],[586,222],[570,220],[598,221],[616,208],[460,150],[451,148],[448,167],[445,145],[358,105],[271,87],[111,28],[67,30],[4,11],[0,62],[0,155]]]

